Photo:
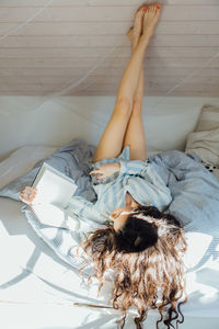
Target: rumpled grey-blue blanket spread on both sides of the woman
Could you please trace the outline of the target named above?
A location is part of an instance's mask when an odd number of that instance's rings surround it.
[[[44,159],[47,163],[74,179],[78,184],[77,195],[83,195],[89,201],[95,201],[95,193],[89,177],[89,161],[95,147],[83,140],[76,139]],[[198,156],[178,150],[164,151],[148,159],[153,162],[159,174],[171,190],[173,201],[165,213],[173,214],[184,226],[185,231],[198,231],[212,237],[205,260],[211,256],[218,257],[219,243],[219,182],[203,164]],[[43,161],[38,162],[24,177],[15,180],[0,191],[0,196],[19,200],[19,191],[34,181]],[[62,228],[54,228],[56,238],[50,239],[48,227],[41,225],[27,206],[23,211],[35,231],[65,261],[79,268],[72,257],[72,239],[77,241],[77,232]],[[51,229],[51,228],[50,228]],[[201,242],[201,241],[200,241]],[[68,246],[67,246],[68,245]],[[70,251],[71,250],[71,251]]]

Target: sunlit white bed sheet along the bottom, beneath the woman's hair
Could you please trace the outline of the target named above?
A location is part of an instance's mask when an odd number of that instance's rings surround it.
[[[0,314],[5,329],[116,328],[119,314],[108,306],[111,283],[97,294],[97,282],[88,288],[68,264],[56,257],[27,224],[22,203],[0,198]],[[209,263],[187,275],[189,302],[183,307],[180,328],[219,328],[219,265]],[[135,328],[130,313],[125,328]],[[145,328],[155,328],[151,313]]]

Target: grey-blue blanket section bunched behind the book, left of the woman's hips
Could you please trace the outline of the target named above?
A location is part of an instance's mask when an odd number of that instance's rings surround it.
[[[43,164],[46,162],[66,175],[73,178],[78,185],[76,195],[83,195],[89,201],[95,201],[95,193],[90,182],[89,161],[91,161],[95,147],[81,139],[73,139],[70,144],[59,148],[51,156],[38,161],[26,174],[15,179],[0,190],[0,196],[19,201],[20,191],[31,186]]]

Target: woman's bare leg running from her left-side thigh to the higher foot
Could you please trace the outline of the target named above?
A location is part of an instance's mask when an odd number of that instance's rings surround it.
[[[131,58],[128,61],[123,73],[118,87],[114,111],[101,137],[93,157],[93,162],[100,161],[105,158],[118,157],[123,149],[124,137],[132,110],[134,97],[140,78],[145,52],[148,47],[149,39],[153,34],[153,29],[160,15],[160,8],[150,5],[149,8],[147,7],[147,9],[150,9],[148,10],[147,14],[145,14],[143,8],[141,8],[136,13],[136,16],[143,15],[143,33],[139,37],[139,43],[132,52]],[[149,16],[150,19],[147,19],[147,16]]]

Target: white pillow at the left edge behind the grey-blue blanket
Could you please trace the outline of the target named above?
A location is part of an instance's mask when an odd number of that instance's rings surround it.
[[[58,147],[23,146],[0,162],[0,189],[28,172],[39,160],[50,156]]]

